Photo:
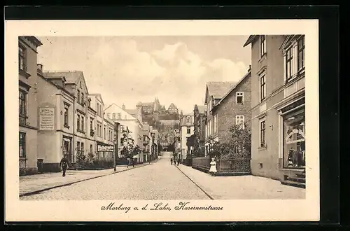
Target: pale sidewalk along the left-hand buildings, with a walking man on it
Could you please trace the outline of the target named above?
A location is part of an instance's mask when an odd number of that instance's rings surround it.
[[[151,164],[157,162],[158,160],[153,160]],[[67,170],[65,177],[62,177],[62,172],[20,176],[20,197],[30,195],[32,193],[40,193],[41,191],[49,190],[52,188],[67,186],[69,184],[78,183],[80,181],[86,181],[97,177],[116,174],[118,172],[124,172],[138,167],[144,167],[146,165],[150,164],[147,162],[141,165],[135,165],[135,167],[129,166],[129,168],[127,168],[126,165],[121,165],[116,167],[116,172],[114,172],[113,169],[78,171]]]

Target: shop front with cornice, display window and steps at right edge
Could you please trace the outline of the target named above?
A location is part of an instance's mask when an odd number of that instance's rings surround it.
[[[305,186],[305,98],[279,109],[279,170],[282,183]]]

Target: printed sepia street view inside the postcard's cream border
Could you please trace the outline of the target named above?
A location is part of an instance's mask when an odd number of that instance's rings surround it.
[[[305,199],[304,35],[18,45],[20,200]]]

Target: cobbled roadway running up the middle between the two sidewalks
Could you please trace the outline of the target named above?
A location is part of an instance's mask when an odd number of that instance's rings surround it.
[[[54,188],[20,200],[210,200],[164,153],[153,165]]]

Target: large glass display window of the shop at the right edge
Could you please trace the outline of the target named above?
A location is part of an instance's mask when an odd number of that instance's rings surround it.
[[[283,167],[305,167],[305,113],[283,117]]]

